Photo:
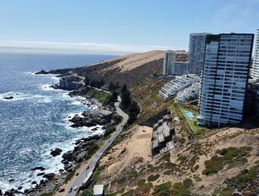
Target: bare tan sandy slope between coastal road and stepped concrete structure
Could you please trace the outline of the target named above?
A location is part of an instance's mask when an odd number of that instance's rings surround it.
[[[114,174],[120,174],[131,164],[143,165],[153,160],[151,156],[152,128],[135,125],[128,132],[130,132],[130,137],[128,136],[123,142],[114,146],[111,153],[101,160],[101,167],[109,165],[101,174],[101,181],[107,176],[112,178]]]

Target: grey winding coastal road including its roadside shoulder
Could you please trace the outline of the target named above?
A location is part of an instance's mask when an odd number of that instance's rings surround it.
[[[62,188],[65,188],[65,191],[63,193],[56,193],[55,195],[66,195],[66,196],[73,196],[76,195],[76,191],[73,190],[76,186],[78,188],[82,185],[83,180],[86,178],[87,174],[92,172],[94,170],[94,167],[97,165],[97,162],[99,158],[101,158],[102,154],[106,151],[106,149],[111,146],[113,141],[116,139],[117,135],[123,130],[123,126],[127,123],[128,116],[127,113],[124,113],[120,107],[119,104],[121,102],[120,97],[118,96],[118,102],[116,102],[114,105],[116,106],[117,113],[120,116],[123,116],[123,121],[116,126],[116,132],[114,132],[111,137],[104,143],[104,145],[97,151],[90,160],[88,160],[87,163],[81,165],[80,169],[78,169],[78,176],[73,176],[73,179],[66,183],[64,186],[61,186]],[[86,169],[86,166],[89,166],[88,169]],[[71,193],[68,193],[69,188],[72,188]]]

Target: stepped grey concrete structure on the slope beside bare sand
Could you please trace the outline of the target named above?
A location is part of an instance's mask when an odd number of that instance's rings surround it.
[[[173,121],[171,114],[163,116],[162,119],[158,120],[153,126],[153,135],[151,139],[152,155],[158,155],[165,153],[166,151],[174,148],[172,137],[175,134],[174,127],[170,126]]]

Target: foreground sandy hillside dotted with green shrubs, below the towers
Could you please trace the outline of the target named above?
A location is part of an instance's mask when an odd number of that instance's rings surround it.
[[[102,158],[96,183],[111,181],[111,195],[258,193],[258,129],[221,130],[177,144],[177,148],[155,160],[151,157],[151,132],[150,127],[138,125],[127,130]],[[243,170],[249,179],[241,173]]]

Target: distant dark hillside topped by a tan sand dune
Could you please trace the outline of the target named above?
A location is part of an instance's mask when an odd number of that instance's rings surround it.
[[[153,50],[139,54],[125,55],[115,59],[109,59],[92,66],[83,66],[73,69],[78,76],[90,78],[90,80],[104,79],[106,85],[119,83],[127,84],[132,89],[154,73],[162,73],[162,63],[165,51]],[[188,55],[179,52],[177,60],[187,60]]]

